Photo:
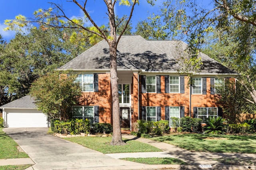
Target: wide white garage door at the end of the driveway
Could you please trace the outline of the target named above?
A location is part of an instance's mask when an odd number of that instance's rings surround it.
[[[7,113],[8,127],[48,127],[44,113]]]

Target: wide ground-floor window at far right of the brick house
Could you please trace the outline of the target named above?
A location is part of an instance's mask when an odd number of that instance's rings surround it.
[[[203,123],[209,117],[218,117],[218,107],[198,107],[198,119],[202,119]]]

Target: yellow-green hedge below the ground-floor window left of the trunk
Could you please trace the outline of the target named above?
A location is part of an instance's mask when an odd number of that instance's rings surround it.
[[[70,119],[67,121],[54,121],[54,132],[61,134],[77,135],[80,133],[90,133],[90,120]]]

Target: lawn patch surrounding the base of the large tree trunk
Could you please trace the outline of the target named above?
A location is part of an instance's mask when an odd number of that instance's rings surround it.
[[[109,145],[112,141],[112,137],[72,137],[64,139],[78,143],[84,147],[97,150],[104,154],[128,152],[162,152],[162,150],[153,147],[152,145],[129,139],[123,139],[126,145],[122,146]]]

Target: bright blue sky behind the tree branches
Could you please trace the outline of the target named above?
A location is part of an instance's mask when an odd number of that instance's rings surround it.
[[[78,0],[78,2],[81,1]],[[62,4],[64,12],[70,18],[83,16],[83,12],[74,3],[67,2],[66,0],[0,0],[0,34],[4,40],[12,39],[15,35],[13,31],[3,31],[4,27],[6,27],[4,20],[14,19],[19,14],[31,18],[33,17],[33,12],[39,8],[48,9],[50,7],[48,2]],[[140,0],[140,4],[136,5],[132,16],[133,27],[135,27],[138,21],[146,19],[147,16],[154,12],[156,13],[161,2],[163,0],[158,0],[156,6],[152,7],[147,4],[146,0]],[[108,23],[105,6],[103,0],[88,0],[86,9],[98,25],[106,25]],[[119,17],[124,14],[129,15],[129,10],[130,8],[127,6],[118,6],[116,4],[115,12]]]

